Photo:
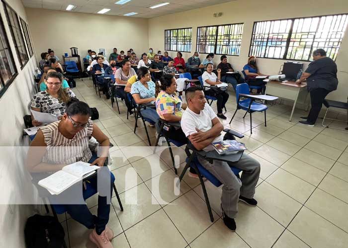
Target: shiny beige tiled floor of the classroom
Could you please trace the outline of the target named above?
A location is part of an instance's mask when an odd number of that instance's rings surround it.
[[[124,206],[121,212],[117,199],[112,198],[109,226],[116,236],[112,241],[115,248],[347,248],[348,132],[320,124],[299,125],[297,120],[304,114],[301,110],[288,122],[291,108],[278,104],[267,111],[267,127],[263,114],[253,115],[253,134],[249,116],[243,120],[242,111],[231,125],[230,120],[224,121],[226,127],[245,133],[242,141],[261,163],[255,195],[259,204],[239,203],[237,231],[233,233],[221,219],[221,187],[205,182],[214,211],[212,223],[198,180],[186,175],[180,188],[174,186],[177,177],[168,148],[160,147],[153,154],[143,124],[139,122],[134,134],[134,117],[127,120],[123,103],[119,115],[110,100],[95,94],[90,80],[78,80],[77,84],[74,92],[98,108],[100,117],[95,123],[115,145],[111,170]],[[229,92],[226,116],[231,118],[236,98]],[[155,143],[154,128],[148,130]],[[173,151],[180,173],[185,153],[176,147]],[[93,212],[96,199],[87,200]],[[60,218],[69,230],[67,241],[72,248],[93,247],[84,226],[69,217]]]

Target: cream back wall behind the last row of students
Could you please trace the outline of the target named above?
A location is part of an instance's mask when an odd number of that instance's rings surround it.
[[[59,59],[64,53],[70,55],[71,47],[79,48],[82,58],[88,49],[98,53],[105,48],[107,58],[114,47],[118,53],[133,48],[139,57],[149,49],[147,19],[40,8],[26,8],[26,12],[38,59],[48,48]]]

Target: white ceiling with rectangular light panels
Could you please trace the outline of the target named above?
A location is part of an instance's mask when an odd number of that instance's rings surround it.
[[[130,12],[138,14],[130,17],[152,18],[161,15],[201,8],[232,0],[131,0],[125,4],[115,4],[118,0],[22,0],[25,7],[64,10],[69,4],[77,7],[72,12],[97,13],[100,9],[109,8],[107,15],[124,15]],[[170,4],[151,9],[150,6],[170,2]]]

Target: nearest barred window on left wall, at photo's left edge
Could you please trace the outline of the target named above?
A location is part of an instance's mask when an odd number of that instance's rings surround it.
[[[0,17],[1,18],[1,17]],[[8,45],[7,35],[0,23],[0,96],[6,91],[8,86],[17,75],[16,65],[13,61],[11,48]]]

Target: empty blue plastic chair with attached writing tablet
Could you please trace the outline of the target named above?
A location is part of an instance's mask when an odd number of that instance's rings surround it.
[[[249,95],[249,93],[250,93],[249,85],[247,83],[241,83],[236,86],[237,109],[231,118],[230,124],[239,109],[245,110],[246,112],[243,118],[245,118],[247,113],[250,113],[250,133],[253,133],[252,113],[264,112],[264,126],[267,126],[266,125],[266,110],[268,109],[268,107],[262,103],[255,102],[254,98],[247,98],[247,99],[241,100],[241,96],[239,94]]]

